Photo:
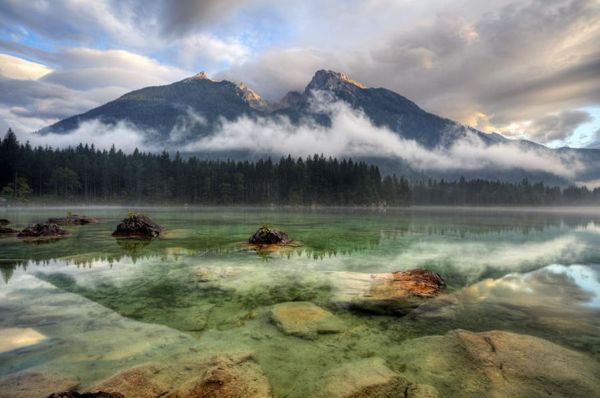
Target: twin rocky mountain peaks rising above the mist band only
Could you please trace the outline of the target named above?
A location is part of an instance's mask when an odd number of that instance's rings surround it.
[[[205,73],[199,73],[166,86],[132,91],[88,112],[61,120],[42,133],[67,133],[80,123],[95,119],[106,124],[126,120],[145,131],[158,132],[159,139],[182,127],[188,130],[189,137],[206,136],[222,119],[235,120],[240,116],[287,116],[294,123],[310,118],[328,125],[329,116],[311,106],[315,91],[328,92],[353,108],[362,109],[376,126],[386,126],[429,148],[450,144],[469,133],[489,143],[498,139],[426,112],[391,90],[367,88],[343,73],[325,70],[317,71],[303,92],[292,91],[273,104],[243,83],[213,81]],[[190,115],[196,117],[190,119]]]

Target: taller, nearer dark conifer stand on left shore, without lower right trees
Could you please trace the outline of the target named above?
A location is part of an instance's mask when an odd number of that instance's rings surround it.
[[[89,203],[370,205],[410,203],[408,182],[351,159],[282,157],[257,161],[183,159],[114,146],[53,149],[0,143],[0,196]]]

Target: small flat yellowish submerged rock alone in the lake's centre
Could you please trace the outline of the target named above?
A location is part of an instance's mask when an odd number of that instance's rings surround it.
[[[274,305],[271,319],[285,334],[308,339],[345,329],[344,323],[331,312],[304,301]]]

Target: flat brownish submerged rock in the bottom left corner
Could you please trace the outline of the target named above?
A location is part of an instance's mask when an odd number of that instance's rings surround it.
[[[20,372],[0,379],[0,398],[40,398],[77,388],[79,381],[38,372]]]

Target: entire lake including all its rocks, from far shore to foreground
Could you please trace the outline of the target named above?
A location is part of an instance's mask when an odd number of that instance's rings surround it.
[[[80,214],[1,215],[0,397],[600,396],[593,215]]]

